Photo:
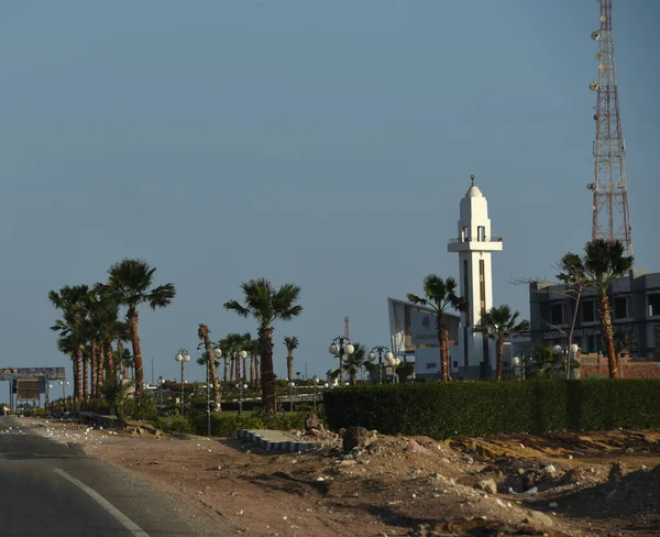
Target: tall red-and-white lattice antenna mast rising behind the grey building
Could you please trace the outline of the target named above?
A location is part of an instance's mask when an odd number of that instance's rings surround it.
[[[632,227],[628,210],[626,185],[626,142],[622,132],[622,119],[614,62],[612,35],[613,0],[596,0],[601,4],[601,30],[592,32],[598,43],[598,81],[590,88],[597,94],[594,114],[596,140],[594,142],[594,182],[587,185],[594,193],[592,205],[592,240],[619,240],[632,255]]]

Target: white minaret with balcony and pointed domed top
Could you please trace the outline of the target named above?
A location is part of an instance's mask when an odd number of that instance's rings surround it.
[[[484,344],[474,327],[480,322],[482,313],[493,307],[493,276],[491,270],[491,252],[501,252],[501,238],[491,235],[488,202],[474,185],[461,199],[461,219],[459,237],[448,244],[450,252],[459,253],[460,294],[468,300],[468,310],[461,314],[462,341],[459,347],[463,353],[463,375],[465,377],[490,376],[495,355],[492,344]],[[485,368],[487,362],[490,368]]]

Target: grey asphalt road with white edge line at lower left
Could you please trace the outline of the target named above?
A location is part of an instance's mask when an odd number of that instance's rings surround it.
[[[20,418],[0,417],[2,537],[230,534],[235,529],[155,491],[138,474],[30,434]]]

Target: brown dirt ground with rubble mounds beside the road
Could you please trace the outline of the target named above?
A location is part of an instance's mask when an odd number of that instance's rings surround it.
[[[34,431],[201,503],[250,536],[660,534],[660,431],[437,442],[373,435],[343,453],[23,418]],[[371,443],[370,443],[371,441]]]

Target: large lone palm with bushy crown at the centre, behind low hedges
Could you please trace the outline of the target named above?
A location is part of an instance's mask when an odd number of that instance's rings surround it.
[[[241,285],[245,305],[238,300],[224,303],[224,308],[235,311],[241,317],[252,316],[258,322],[258,339],[261,341],[261,377],[262,398],[268,410],[277,408],[275,373],[273,372],[273,332],[275,320],[292,320],[302,311],[302,306],[296,304],[300,297],[300,287],[284,284],[275,289],[265,278],[250,280]]]

